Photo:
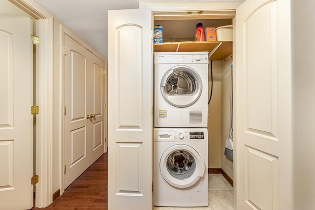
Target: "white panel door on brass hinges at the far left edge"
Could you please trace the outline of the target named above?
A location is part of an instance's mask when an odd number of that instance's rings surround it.
[[[31,34],[30,17],[0,14],[0,210],[33,207]]]

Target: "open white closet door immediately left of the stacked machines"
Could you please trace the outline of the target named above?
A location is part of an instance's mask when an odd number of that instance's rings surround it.
[[[108,209],[152,209],[151,10],[108,11]]]

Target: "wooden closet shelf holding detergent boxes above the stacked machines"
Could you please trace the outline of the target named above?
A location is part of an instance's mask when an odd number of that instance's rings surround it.
[[[220,43],[222,43],[220,45]],[[208,51],[209,53],[218,45],[219,48],[211,55],[209,60],[223,60],[232,54],[232,41],[213,41],[213,42],[164,42],[154,44],[154,52],[201,52]]]

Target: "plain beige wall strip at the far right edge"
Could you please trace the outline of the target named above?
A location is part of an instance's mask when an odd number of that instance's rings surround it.
[[[315,1],[292,2],[294,208],[315,209]],[[289,20],[288,20],[289,21]]]

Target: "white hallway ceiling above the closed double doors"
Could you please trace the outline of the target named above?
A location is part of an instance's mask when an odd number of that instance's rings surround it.
[[[35,0],[107,58],[107,11],[169,0]],[[190,1],[191,0],[172,0]],[[200,0],[199,0],[200,1]],[[207,1],[207,0],[206,0]]]

